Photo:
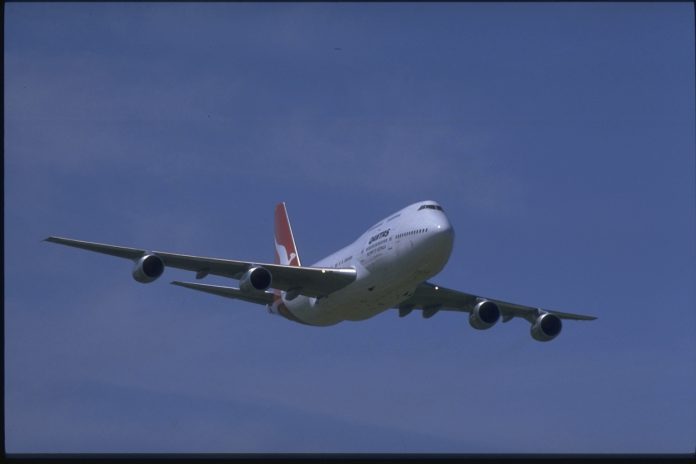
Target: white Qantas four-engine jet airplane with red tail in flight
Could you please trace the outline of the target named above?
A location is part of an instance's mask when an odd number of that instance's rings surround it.
[[[133,278],[157,280],[166,267],[239,280],[237,287],[173,281],[171,284],[265,305],[271,314],[310,326],[362,321],[388,309],[404,317],[420,310],[423,318],[439,311],[469,313],[469,324],[490,329],[515,317],[531,324],[533,339],[556,338],[561,320],[596,317],[551,311],[448,289],[429,282],[449,260],[454,229],[435,201],[413,203],[377,222],[356,241],[311,266],[302,266],[285,203],[274,216],[275,262],[261,263],[183,255],[106,245],[62,237],[45,241],[82,248],[135,263]]]

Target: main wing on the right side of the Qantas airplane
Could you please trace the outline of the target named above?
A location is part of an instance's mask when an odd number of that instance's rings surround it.
[[[534,320],[541,313],[550,313],[561,319],[573,319],[578,321],[592,321],[597,319],[594,316],[563,313],[560,311],[508,303],[494,298],[486,298],[451,290],[430,282],[423,282],[420,284],[413,295],[399,304],[399,311],[400,314],[406,315],[412,309],[422,309],[424,311],[423,314],[427,317],[432,316],[439,310],[471,312],[474,306],[483,300],[492,301],[498,305],[503,322],[507,322],[514,317],[521,317],[534,323]]]

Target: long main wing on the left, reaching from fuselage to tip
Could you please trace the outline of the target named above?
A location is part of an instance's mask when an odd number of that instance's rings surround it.
[[[281,264],[235,261],[231,259],[205,258],[202,256],[183,255],[163,251],[147,251],[139,248],[85,242],[62,237],[48,237],[46,241],[119,258],[126,258],[132,261],[137,261],[145,255],[156,255],[162,260],[165,266],[193,271],[196,273],[197,278],[203,278],[208,274],[213,274],[240,279],[244,273],[252,267],[260,266],[271,273],[272,288],[313,297],[325,296],[335,292],[347,286],[356,278],[356,271],[352,268],[297,267],[284,266]]]

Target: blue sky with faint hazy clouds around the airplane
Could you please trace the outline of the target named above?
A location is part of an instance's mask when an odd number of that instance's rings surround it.
[[[693,5],[9,3],[4,85],[8,452],[694,451]],[[599,319],[312,328],[41,242],[271,260],[286,201],[314,262],[423,199],[434,281]]]

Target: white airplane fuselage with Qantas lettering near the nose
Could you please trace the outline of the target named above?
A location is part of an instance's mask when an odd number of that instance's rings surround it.
[[[360,321],[397,306],[415,288],[442,270],[452,252],[454,230],[437,202],[422,201],[379,221],[355,242],[314,264],[354,268],[347,287],[323,298],[282,293],[299,322],[327,326]],[[275,307],[269,307],[278,313]]]

